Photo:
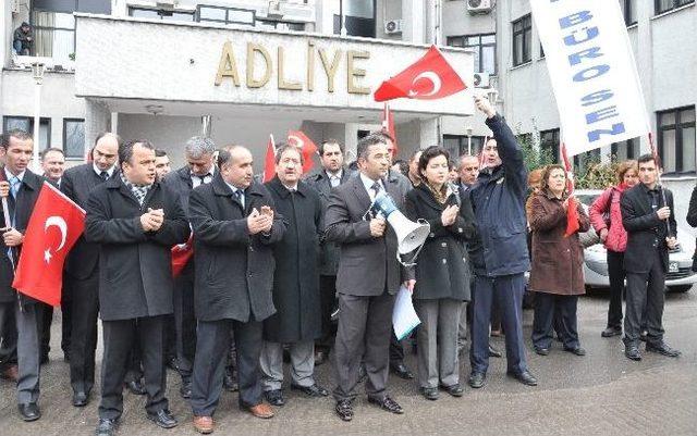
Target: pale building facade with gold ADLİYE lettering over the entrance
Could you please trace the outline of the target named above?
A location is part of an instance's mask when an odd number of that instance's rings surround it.
[[[676,204],[684,222],[697,178],[695,1],[620,1],[625,13],[663,179],[685,199]],[[302,129],[316,142],[339,139],[351,154],[359,136],[380,126],[381,104],[371,101],[371,91],[431,43],[443,48],[469,89],[443,104],[395,101],[401,158],[439,142],[452,154],[478,152],[489,132],[481,116],[470,116],[472,95],[491,89],[514,129],[558,155],[559,115],[528,0],[2,4],[2,128],[33,128],[36,86],[28,65],[39,57],[49,66],[40,95],[40,147],[61,147],[75,162],[97,132],[110,129],[146,137],[181,163],[183,142],[201,133],[206,115],[218,144],[249,146],[258,162],[268,135],[278,141],[289,129]],[[34,27],[29,57],[12,49],[22,22]],[[592,158],[636,158],[648,149],[648,139],[637,138]],[[584,162],[576,160],[577,166]]]

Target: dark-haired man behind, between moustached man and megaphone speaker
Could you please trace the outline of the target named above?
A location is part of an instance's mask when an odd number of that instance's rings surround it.
[[[309,173],[305,182],[319,192],[322,211],[329,205],[332,188],[346,183],[353,171],[344,167],[344,146],[335,139],[327,139],[319,146],[321,169]],[[322,212],[323,213],[323,212]],[[334,242],[320,240],[319,295],[321,300],[322,336],[315,344],[315,365],[321,365],[329,358],[334,345],[331,313],[337,308],[337,270],[339,269],[339,247]]]

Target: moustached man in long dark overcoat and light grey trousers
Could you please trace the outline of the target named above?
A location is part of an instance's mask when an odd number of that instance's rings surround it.
[[[315,382],[315,339],[321,334],[319,297],[319,239],[322,208],[319,195],[299,179],[303,155],[297,147],[282,145],[276,151],[276,177],[266,184],[286,231],[273,247],[273,306],[277,312],[264,321],[261,372],[264,395],[283,406],[283,345],[291,354],[291,389],[310,397],[329,395]]]

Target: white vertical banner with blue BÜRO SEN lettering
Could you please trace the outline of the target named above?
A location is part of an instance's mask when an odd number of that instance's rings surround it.
[[[649,122],[616,0],[530,0],[568,155],[647,135]]]

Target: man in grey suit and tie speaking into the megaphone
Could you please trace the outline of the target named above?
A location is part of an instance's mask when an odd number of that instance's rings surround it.
[[[398,240],[382,217],[365,219],[380,191],[387,191],[398,208],[404,196],[396,182],[386,179],[390,167],[387,141],[368,135],[358,141],[359,174],[334,188],[326,215],[327,239],[341,247],[337,290],[339,331],[334,345],[337,359],[335,411],[343,421],[353,419],[358,365],[365,361],[368,401],[392,413],[404,413],[386,393],[394,292],[400,283],[413,289],[409,271],[396,261]],[[369,216],[369,215],[368,215]]]

